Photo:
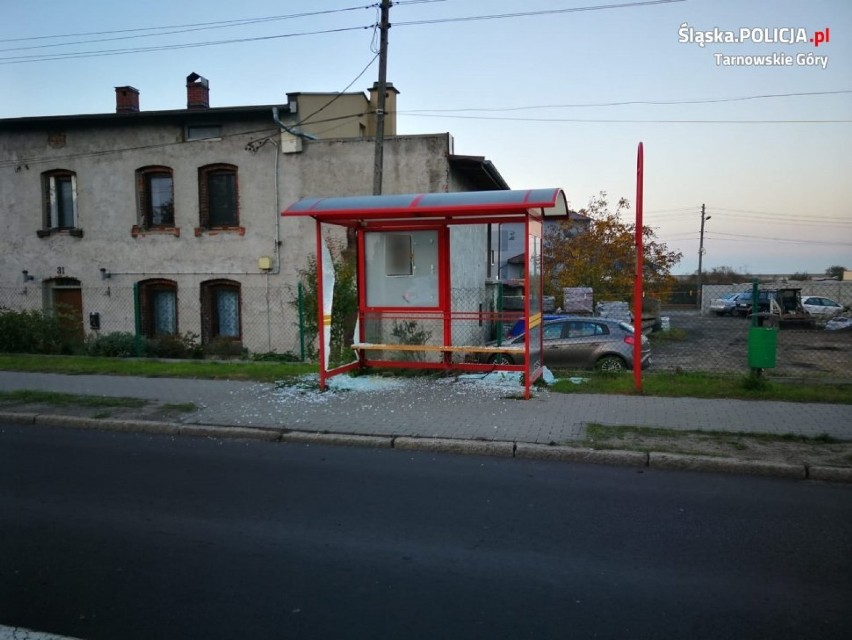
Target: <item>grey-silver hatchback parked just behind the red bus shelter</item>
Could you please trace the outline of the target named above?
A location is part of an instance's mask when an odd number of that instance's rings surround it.
[[[624,371],[633,368],[633,327],[607,318],[564,316],[542,324],[544,364],[551,369],[599,369]],[[524,335],[510,339],[507,346],[524,344]],[[493,343],[492,343],[493,344]],[[483,354],[491,364],[521,364],[523,355]],[[651,363],[651,343],[642,336],[642,368]]]

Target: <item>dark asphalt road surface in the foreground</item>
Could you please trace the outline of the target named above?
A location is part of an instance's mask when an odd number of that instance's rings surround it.
[[[0,624],[847,638],[852,487],[0,425]]]

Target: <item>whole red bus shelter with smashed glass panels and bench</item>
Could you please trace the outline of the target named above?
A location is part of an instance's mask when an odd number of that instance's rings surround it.
[[[545,219],[568,215],[561,189],[304,198],[281,215],[316,223],[321,389],[331,376],[359,367],[502,370],[523,373],[529,398],[543,370],[542,229]],[[505,224],[523,229],[526,238],[522,310],[506,311],[487,292],[471,295],[457,286],[471,273],[485,280],[491,260],[489,232],[459,231]],[[334,367],[328,361],[334,272],[324,225],[352,229],[357,242],[353,359]],[[503,328],[521,319],[524,338],[510,344]]]

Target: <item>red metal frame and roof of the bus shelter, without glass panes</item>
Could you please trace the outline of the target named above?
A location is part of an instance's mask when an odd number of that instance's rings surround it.
[[[357,359],[353,362],[329,369],[326,366],[325,343],[322,333],[319,339],[320,388],[325,389],[326,381],[337,374],[345,373],[357,367],[382,366],[400,368],[458,369],[468,371],[520,371],[524,373],[525,397],[529,398],[531,385],[541,376],[542,359],[542,286],[541,286],[541,239],[543,221],[550,218],[567,217],[568,205],[565,194],[559,188],[501,190],[501,191],[464,191],[453,193],[427,193],[406,195],[352,196],[335,198],[303,198],[284,210],[283,217],[311,217],[316,222],[317,256],[317,300],[318,326],[330,323],[330,317],[323,313],[323,240],[324,224],[338,225],[353,229],[355,232],[358,261],[358,314],[359,335],[353,344]],[[523,353],[523,364],[486,364],[482,362],[454,362],[453,354],[477,353],[488,351],[485,345],[460,345],[453,341],[452,322],[464,316],[476,316],[481,319],[482,312],[453,312],[450,273],[450,227],[453,225],[482,225],[500,223],[520,223],[524,225],[525,261],[524,261],[524,311],[522,317],[527,331],[523,349],[514,347],[518,354]],[[438,242],[438,304],[432,307],[370,307],[367,304],[367,257],[365,252],[365,234],[370,231],[437,231]],[[485,259],[487,247],[482,247]],[[420,318],[443,323],[441,344],[437,345],[399,345],[364,343],[365,322],[369,314],[383,314],[385,318]],[[467,318],[471,319],[471,318]],[[439,362],[416,360],[388,360],[373,357],[370,354],[382,350],[410,350],[440,352]],[[490,350],[499,351],[501,347]],[[508,349],[506,349],[508,350]]]

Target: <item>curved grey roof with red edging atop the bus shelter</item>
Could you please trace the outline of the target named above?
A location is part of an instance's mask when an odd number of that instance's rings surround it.
[[[559,188],[303,198],[281,215],[341,225],[428,220],[475,224],[492,218],[567,216],[568,202]]]

